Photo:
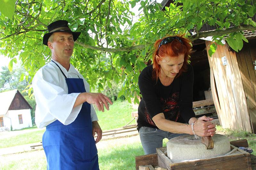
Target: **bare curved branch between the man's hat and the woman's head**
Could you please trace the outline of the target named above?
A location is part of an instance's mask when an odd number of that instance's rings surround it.
[[[96,46],[91,46],[88,44],[84,44],[82,42],[79,41],[75,41],[76,44],[83,46],[84,48],[90,48],[93,50],[98,50],[98,51],[104,51],[104,52],[119,52],[119,51],[132,51],[132,50],[140,50],[140,49],[144,49],[146,47],[146,45],[140,45],[140,46],[131,46],[131,47],[124,47],[124,48],[104,48],[104,47],[96,47]]]

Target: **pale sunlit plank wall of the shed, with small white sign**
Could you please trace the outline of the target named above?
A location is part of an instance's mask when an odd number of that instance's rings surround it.
[[[216,52],[209,56],[211,41],[205,41],[211,76],[214,104],[223,128],[252,132],[243,83],[236,54],[228,51],[228,46],[217,46]],[[221,57],[226,56],[227,65],[223,66]]]

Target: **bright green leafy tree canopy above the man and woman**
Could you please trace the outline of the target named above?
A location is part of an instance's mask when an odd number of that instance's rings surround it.
[[[111,88],[113,81],[122,82],[118,96],[129,102],[140,92],[138,76],[152,56],[156,39],[184,33],[191,40],[213,36],[220,44],[226,36],[229,46],[238,51],[243,40],[248,42],[242,30],[256,28],[253,0],[175,0],[165,10],[155,0],[0,0],[0,4],[4,4],[0,6],[0,54],[12,58],[10,69],[19,56],[27,76],[33,77],[51,58],[49,48],[42,45],[47,25],[64,19],[73,31],[82,32],[71,63],[99,91]],[[135,6],[143,11],[137,22],[131,11]],[[204,24],[217,29],[200,32]],[[212,44],[209,53],[215,50]]]

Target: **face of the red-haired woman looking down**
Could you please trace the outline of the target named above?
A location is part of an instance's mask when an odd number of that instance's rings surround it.
[[[156,55],[156,61],[161,66],[161,77],[174,78],[183,66],[184,54],[175,57],[167,55],[163,58]]]

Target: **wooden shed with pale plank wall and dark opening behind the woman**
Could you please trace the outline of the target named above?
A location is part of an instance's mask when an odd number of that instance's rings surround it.
[[[172,2],[163,0],[161,4],[165,7]],[[256,17],[252,20],[256,21]],[[215,29],[203,25],[199,32]],[[238,53],[226,43],[217,46],[212,57],[208,54],[212,41],[192,42],[193,101],[209,98],[206,92],[210,92],[223,128],[256,133],[256,32],[244,31],[244,36],[249,43],[244,42]]]

